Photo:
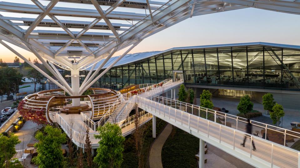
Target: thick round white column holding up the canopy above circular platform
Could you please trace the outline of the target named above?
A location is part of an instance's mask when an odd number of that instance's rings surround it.
[[[79,70],[71,70],[73,96],[79,96]],[[80,106],[80,98],[72,99],[72,106]]]

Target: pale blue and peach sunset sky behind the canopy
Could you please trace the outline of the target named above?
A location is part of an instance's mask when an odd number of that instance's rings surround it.
[[[9,0],[5,1],[10,2]],[[11,1],[17,2],[18,0]],[[299,21],[299,15],[256,8],[196,16],[144,39],[130,53],[162,51],[173,47],[240,42],[300,45]],[[35,58],[31,52],[16,46],[13,48],[25,57],[30,57],[31,60]],[[0,50],[0,58],[3,61],[13,61],[15,55],[12,52],[1,44]],[[120,54],[122,51],[115,53],[115,56]]]

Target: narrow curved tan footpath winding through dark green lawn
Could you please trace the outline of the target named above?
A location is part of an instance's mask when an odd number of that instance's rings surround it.
[[[162,133],[156,138],[150,149],[149,164],[150,168],[163,168],[162,164],[162,149],[163,144],[168,139],[172,131],[172,125],[168,124]]]

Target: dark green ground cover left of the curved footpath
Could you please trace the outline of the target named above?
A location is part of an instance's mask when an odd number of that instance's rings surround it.
[[[143,167],[148,167],[148,158],[150,147],[154,141],[152,137],[152,120],[148,121],[146,124],[145,131],[145,140],[142,148],[142,156],[143,156]],[[167,125],[167,122],[156,118],[156,137],[158,134],[163,131],[163,128]],[[138,156],[136,154],[135,148],[135,139],[133,135],[128,135],[125,137],[126,140],[124,142],[124,152],[123,152],[123,163],[122,168],[136,168],[138,167]],[[199,140],[198,140],[199,144]]]

